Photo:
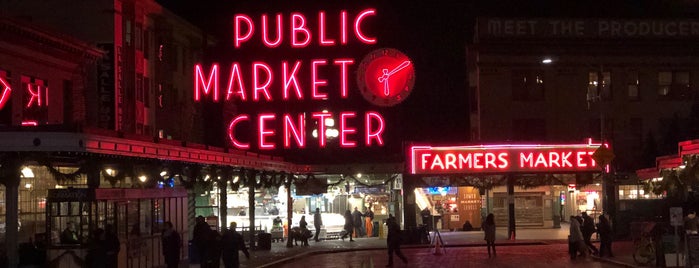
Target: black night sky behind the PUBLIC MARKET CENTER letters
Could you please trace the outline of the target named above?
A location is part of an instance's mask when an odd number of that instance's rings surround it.
[[[401,104],[375,109],[368,106],[356,89],[351,89],[350,94],[354,97],[349,101],[327,103],[332,109],[379,110],[387,121],[386,146],[355,149],[309,147],[263,152],[297,163],[400,162],[403,161],[404,146],[408,142],[469,142],[466,44],[472,40],[477,16],[667,17],[680,13],[683,13],[681,16],[696,14],[692,11],[694,9],[679,8],[676,4],[660,1],[157,1],[219,40],[218,46],[207,51],[205,57],[222,66],[229,66],[234,61],[249,64],[254,60],[278,66],[282,60],[308,62],[313,58],[338,57],[351,57],[358,63],[370,51],[384,47],[396,48],[412,59],[416,69],[415,87]],[[247,48],[235,49],[233,46],[232,20],[237,13],[251,16],[259,27],[260,15],[265,13],[282,13],[285,23],[288,23],[291,12],[301,12],[309,21],[315,21],[320,10],[325,10],[328,18],[332,19],[338,16],[340,10],[356,14],[366,8],[376,9],[377,15],[365,29],[368,34],[377,37],[376,45],[357,43],[346,47],[322,48],[312,43],[300,50],[290,49],[288,45],[268,49],[261,45],[259,39],[255,39]],[[649,14],[649,10],[654,13]],[[337,27],[337,23],[328,25]],[[284,27],[287,32],[288,24]],[[224,77],[227,80],[227,74]],[[337,77],[329,77],[328,80],[337,80]],[[286,107],[282,111],[310,112],[321,109],[317,103],[284,105]],[[278,110],[279,103],[254,107],[243,104],[238,109],[244,112],[271,107]],[[219,119],[210,121],[216,120]],[[208,128],[219,127],[218,133],[223,133],[223,125],[216,122]],[[208,142],[223,143],[223,136],[211,137]]]

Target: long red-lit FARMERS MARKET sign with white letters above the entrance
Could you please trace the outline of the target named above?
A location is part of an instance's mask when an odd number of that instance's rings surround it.
[[[413,146],[411,174],[600,171],[592,154],[601,144]]]

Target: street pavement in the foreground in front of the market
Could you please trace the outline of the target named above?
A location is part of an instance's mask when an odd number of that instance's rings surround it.
[[[442,231],[444,254],[434,255],[429,245],[403,245],[408,265],[395,258],[395,267],[638,267],[632,257],[630,241],[615,241],[613,258],[590,256],[570,260],[568,226],[559,229],[518,229],[515,240],[506,236],[506,228],[496,232],[496,258],[488,258],[483,232]],[[433,235],[431,235],[432,237]],[[271,250],[252,250],[241,267],[383,267],[388,263],[385,238],[355,238],[309,241],[309,246],[286,247],[286,242],[272,243]],[[599,243],[596,243],[599,247]],[[199,265],[190,265],[190,268]],[[670,267],[668,265],[668,267]]]

